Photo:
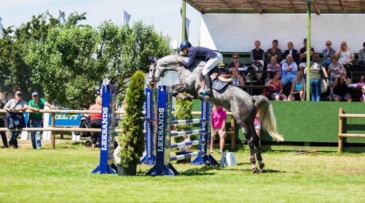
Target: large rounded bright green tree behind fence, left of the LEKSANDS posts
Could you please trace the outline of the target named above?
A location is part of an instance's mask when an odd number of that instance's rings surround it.
[[[98,33],[90,26],[54,28],[45,43],[29,46],[32,80],[56,103],[87,109],[98,92],[105,69],[96,65]]]

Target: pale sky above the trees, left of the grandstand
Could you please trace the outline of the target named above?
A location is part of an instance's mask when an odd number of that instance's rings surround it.
[[[4,28],[19,27],[31,20],[32,15],[46,10],[58,17],[58,8],[66,17],[74,11],[86,12],[88,24],[97,27],[104,20],[111,19],[115,25],[123,23],[123,10],[131,15],[130,24],[142,20],[155,26],[157,32],[169,35],[171,39],[181,37],[180,0],[0,0],[0,17]],[[200,13],[187,4],[187,18],[190,19],[190,39],[199,38]],[[67,20],[67,19],[66,19]]]

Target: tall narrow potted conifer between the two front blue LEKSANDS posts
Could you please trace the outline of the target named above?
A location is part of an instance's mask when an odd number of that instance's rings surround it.
[[[144,73],[136,71],[132,75],[129,89],[126,93],[125,118],[122,120],[122,136],[119,138],[121,150],[118,156],[121,163],[118,165],[119,175],[136,175],[137,164],[144,151],[143,116]]]

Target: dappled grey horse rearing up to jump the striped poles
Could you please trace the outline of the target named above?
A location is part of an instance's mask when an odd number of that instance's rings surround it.
[[[256,160],[254,157],[254,148],[256,148],[256,158],[259,161],[260,171],[262,171],[265,164],[262,162],[259,136],[256,134],[253,126],[253,120],[257,118],[261,121],[261,126],[270,136],[276,138],[278,141],[283,141],[284,138],[277,132],[276,119],[273,115],[272,106],[269,100],[262,95],[251,96],[242,89],[233,85],[226,86],[223,90],[213,90],[213,96],[202,96],[203,88],[199,87],[198,74],[204,68],[205,61],[194,60],[191,68],[186,69],[180,66],[177,62],[177,57],[180,55],[168,55],[162,57],[152,63],[147,80],[147,86],[151,87],[163,77],[167,71],[176,71],[178,73],[180,84],[172,86],[172,93],[175,97],[180,99],[189,99],[192,97],[200,98],[201,100],[209,101],[209,103],[219,105],[232,112],[237,124],[241,127],[243,134],[246,137],[247,144],[250,149],[250,161],[252,164],[251,170],[253,173],[258,172],[255,166]],[[184,58],[184,57],[183,57]],[[187,60],[187,58],[184,58]],[[198,91],[196,91],[198,89]],[[187,95],[181,92],[188,93]]]

